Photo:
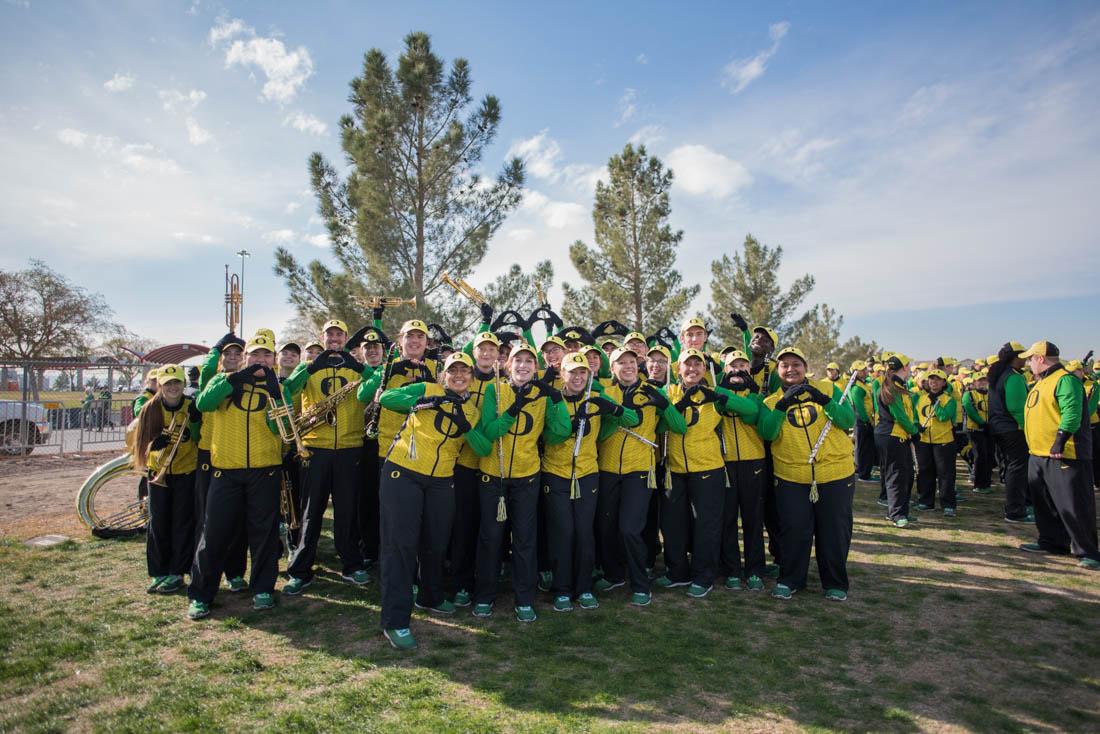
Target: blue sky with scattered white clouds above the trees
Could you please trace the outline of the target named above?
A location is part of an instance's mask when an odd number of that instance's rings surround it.
[[[411,30],[501,98],[486,171],[528,164],[474,284],[542,258],[575,282],[568,245],[632,140],[675,172],[698,308],[752,232],[892,349],[1100,346],[1093,3],[0,0],[0,266],[42,258],[138,333],[212,341],[245,248],[245,326],[278,330],[274,248],[327,258],[306,160],[341,160],[364,52]]]

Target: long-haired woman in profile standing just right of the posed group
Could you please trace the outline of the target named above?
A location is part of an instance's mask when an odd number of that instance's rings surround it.
[[[908,527],[909,501],[913,491],[913,451],[910,439],[919,432],[916,408],[905,379],[909,358],[891,354],[886,360],[882,384],[876,396],[878,423],[875,445],[879,449],[879,467],[887,492],[887,519],[897,527]]]

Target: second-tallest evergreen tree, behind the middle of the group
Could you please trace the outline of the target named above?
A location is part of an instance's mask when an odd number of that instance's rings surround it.
[[[668,221],[672,171],[630,143],[607,168],[592,209],[595,248],[578,240],[569,249],[584,284],[562,284],[562,314],[571,324],[617,318],[649,333],[679,320],[700,288],[681,285],[674,267],[683,231]]]

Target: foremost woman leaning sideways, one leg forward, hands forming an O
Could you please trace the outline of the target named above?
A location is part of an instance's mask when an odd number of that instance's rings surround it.
[[[385,409],[405,416],[386,447],[378,490],[382,629],[399,650],[417,646],[409,629],[414,603],[438,614],[454,613],[443,594],[443,557],[454,518],[454,463],[466,441],[481,443],[479,452],[488,450],[488,441],[472,429],[479,419],[468,399],[473,365],[469,354],[454,352],[443,363],[439,383],[409,383],[382,394]],[[381,381],[381,374],[375,380]]]

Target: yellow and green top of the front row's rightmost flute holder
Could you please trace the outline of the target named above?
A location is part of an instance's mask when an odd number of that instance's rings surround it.
[[[854,450],[847,431],[856,425],[856,414],[846,402],[840,402],[840,390],[828,380],[811,381],[810,384],[831,395],[827,405],[817,405],[802,393],[785,412],[777,410],[776,404],[783,392],[776,391],[760,407],[757,430],[763,440],[771,441],[776,476],[799,484],[813,481],[824,484],[851,476],[855,473]],[[833,421],[833,428],[811,464],[810,453],[828,420]]]

